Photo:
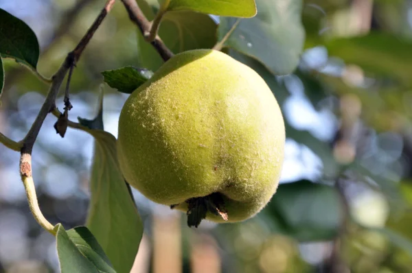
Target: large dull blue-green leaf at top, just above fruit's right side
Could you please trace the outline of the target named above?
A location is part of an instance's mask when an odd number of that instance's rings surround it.
[[[304,47],[305,32],[301,24],[301,0],[257,0],[258,14],[242,19],[225,41],[225,46],[260,60],[272,73],[293,72]],[[222,17],[218,28],[219,40],[238,21]]]

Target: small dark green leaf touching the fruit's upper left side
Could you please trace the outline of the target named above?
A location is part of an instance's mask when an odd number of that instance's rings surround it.
[[[106,70],[102,72],[104,82],[116,88],[119,92],[131,94],[141,84],[149,80],[153,72],[148,69],[136,67],[122,67],[121,69]]]

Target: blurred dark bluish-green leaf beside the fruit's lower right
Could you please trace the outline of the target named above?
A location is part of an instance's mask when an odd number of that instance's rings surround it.
[[[332,239],[344,217],[336,189],[308,180],[279,185],[266,212],[277,231],[299,241]]]

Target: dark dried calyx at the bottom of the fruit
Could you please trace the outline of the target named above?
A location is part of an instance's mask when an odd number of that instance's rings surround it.
[[[225,201],[220,193],[211,193],[205,197],[190,198],[186,200],[186,203],[188,204],[187,226],[189,227],[194,226],[197,228],[202,220],[206,219],[207,212],[219,215],[225,221],[228,220]]]

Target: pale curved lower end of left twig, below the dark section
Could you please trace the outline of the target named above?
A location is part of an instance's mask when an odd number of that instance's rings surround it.
[[[34,216],[34,219],[36,219],[36,222],[38,222],[38,224],[40,224],[45,230],[56,236],[54,226],[47,221],[38,206],[36,188],[34,187],[34,180],[32,176],[32,156],[30,154],[21,155],[20,174],[27,195],[27,201],[29,202],[29,208]]]

